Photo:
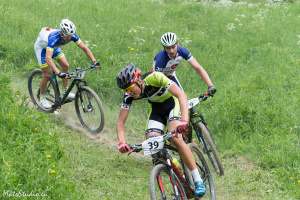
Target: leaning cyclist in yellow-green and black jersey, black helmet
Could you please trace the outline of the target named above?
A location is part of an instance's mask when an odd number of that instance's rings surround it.
[[[125,122],[134,100],[147,99],[151,104],[151,114],[146,130],[146,137],[163,134],[165,126],[169,131],[176,128],[188,129],[188,103],[183,90],[161,72],[149,72],[141,75],[141,70],[133,64],[124,67],[116,77],[117,85],[124,90],[123,102],[117,121],[118,150],[130,151],[125,139]],[[179,127],[179,128],[178,128]],[[205,185],[197,169],[192,152],[184,142],[182,135],[172,138],[180,157],[191,171],[195,183],[195,195],[205,194]]]

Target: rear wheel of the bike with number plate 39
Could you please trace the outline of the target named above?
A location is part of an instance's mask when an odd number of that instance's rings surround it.
[[[198,171],[201,175],[201,178],[203,179],[203,182],[204,182],[205,188],[206,188],[206,194],[203,197],[201,197],[201,200],[216,200],[214,179],[209,170],[209,167],[207,165],[207,162],[204,158],[203,153],[200,151],[198,146],[194,143],[189,143],[188,146],[192,151]],[[187,169],[186,165],[184,165],[183,168],[185,170],[187,179],[189,180],[191,187],[193,188],[194,181],[193,181],[192,175],[191,175],[190,171]]]

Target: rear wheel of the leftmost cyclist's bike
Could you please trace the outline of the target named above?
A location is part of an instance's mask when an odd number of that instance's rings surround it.
[[[40,83],[43,78],[42,70],[35,69],[31,72],[31,74],[28,77],[28,92],[31,98],[31,101],[35,106],[38,107],[39,110],[42,110],[43,112],[53,112],[55,108],[44,108],[40,102],[41,94],[40,94]],[[45,97],[50,103],[50,105],[54,105],[56,99],[59,96],[59,92],[57,91],[56,85],[52,79],[50,79],[46,86],[46,93]]]

